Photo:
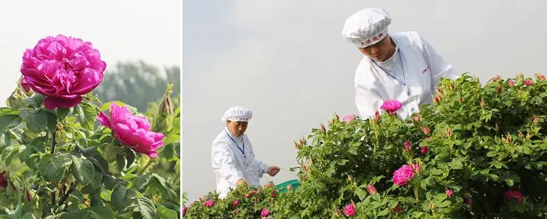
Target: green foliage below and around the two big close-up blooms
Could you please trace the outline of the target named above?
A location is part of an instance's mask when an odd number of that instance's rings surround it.
[[[49,111],[42,95],[22,96],[8,101],[17,108],[0,108],[0,177],[8,182],[0,187],[0,218],[180,215],[180,106],[172,106],[171,120],[151,117],[152,126],[168,128],[160,131],[166,144],[159,158],[150,159],[96,127],[110,102],[90,93],[78,106]]]

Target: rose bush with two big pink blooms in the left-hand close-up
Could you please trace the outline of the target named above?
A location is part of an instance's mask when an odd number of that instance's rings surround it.
[[[0,218],[177,218],[180,108],[101,104],[106,64],[81,39],[46,37],[23,59],[0,108]]]

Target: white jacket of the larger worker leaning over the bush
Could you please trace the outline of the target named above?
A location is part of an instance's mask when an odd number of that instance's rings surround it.
[[[452,65],[417,32],[399,32],[390,36],[397,45],[392,57],[376,64],[364,57],[355,73],[355,102],[363,120],[380,111],[383,101],[390,99],[397,99],[403,104],[397,115],[405,119],[412,115],[413,110],[417,112],[420,106],[432,102],[440,77],[458,77],[453,73]],[[399,57],[403,59],[403,68]],[[397,79],[390,77],[379,66]],[[405,81],[403,70],[410,96],[401,84]]]

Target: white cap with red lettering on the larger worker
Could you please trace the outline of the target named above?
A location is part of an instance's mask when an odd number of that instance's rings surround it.
[[[365,8],[346,19],[342,36],[358,48],[376,44],[388,35],[391,18],[381,8]]]

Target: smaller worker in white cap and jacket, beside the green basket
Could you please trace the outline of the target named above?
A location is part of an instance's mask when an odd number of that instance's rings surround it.
[[[252,112],[243,106],[229,108],[222,121],[226,127],[213,141],[211,166],[216,175],[216,191],[225,198],[231,189],[249,184],[259,187],[264,173],[275,176],[279,167],[268,166],[254,158],[252,144],[245,135]]]

